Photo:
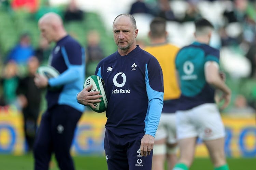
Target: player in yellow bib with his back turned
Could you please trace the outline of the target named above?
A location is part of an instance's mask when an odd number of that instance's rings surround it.
[[[163,170],[165,160],[171,170],[177,162],[175,112],[181,91],[176,79],[175,58],[179,47],[167,42],[166,20],[154,18],[150,23],[150,46],[145,51],[154,55],[163,71],[163,109],[156,131],[152,170]]]

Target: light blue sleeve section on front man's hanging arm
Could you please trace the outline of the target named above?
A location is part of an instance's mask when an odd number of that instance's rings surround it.
[[[145,72],[145,83],[148,97],[148,110],[145,118],[145,134],[155,137],[163,107],[163,92],[153,90],[150,87],[147,65]]]

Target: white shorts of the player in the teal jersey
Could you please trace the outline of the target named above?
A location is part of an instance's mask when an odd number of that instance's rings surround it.
[[[176,112],[177,139],[200,137],[214,140],[225,136],[225,127],[215,103],[205,103]]]

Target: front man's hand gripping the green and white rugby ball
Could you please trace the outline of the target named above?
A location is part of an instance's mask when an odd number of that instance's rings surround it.
[[[82,91],[77,94],[77,101],[80,104],[83,104],[85,106],[91,106],[92,108],[96,108],[94,106],[94,103],[101,102],[100,98],[102,97],[100,94],[100,91],[90,91],[90,89],[93,87],[93,85],[90,85],[89,87],[84,88]]]

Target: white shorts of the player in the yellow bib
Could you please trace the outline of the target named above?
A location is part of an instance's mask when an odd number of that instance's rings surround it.
[[[155,140],[167,138],[167,143],[173,144],[176,139],[176,117],[175,113],[162,113],[156,131]]]

